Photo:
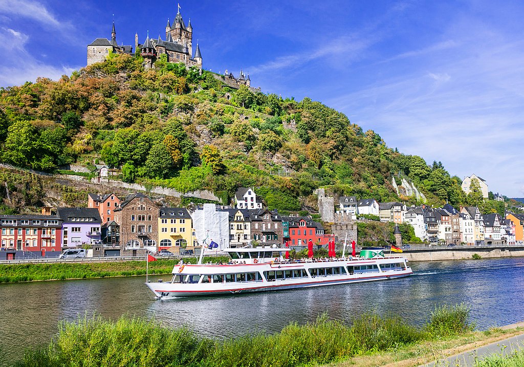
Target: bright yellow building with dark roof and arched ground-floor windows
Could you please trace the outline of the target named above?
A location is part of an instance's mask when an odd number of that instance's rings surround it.
[[[160,208],[158,216],[158,250],[174,254],[192,250],[195,241],[191,215],[184,208]],[[180,249],[183,249],[180,251]]]

